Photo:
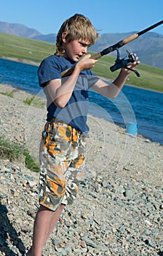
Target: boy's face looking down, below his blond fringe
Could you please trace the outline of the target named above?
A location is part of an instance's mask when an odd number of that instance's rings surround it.
[[[79,59],[87,53],[89,42],[87,40],[73,40],[69,43],[64,43],[65,58],[72,61],[79,61]]]

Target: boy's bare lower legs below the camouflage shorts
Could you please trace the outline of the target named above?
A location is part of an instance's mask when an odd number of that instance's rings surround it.
[[[27,256],[41,256],[44,244],[52,233],[65,205],[60,205],[56,211],[40,206],[36,214],[33,228],[33,244]]]

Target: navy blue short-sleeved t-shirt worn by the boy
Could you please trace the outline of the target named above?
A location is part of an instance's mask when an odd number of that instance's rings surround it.
[[[74,64],[76,64],[75,61],[65,59],[62,56],[52,55],[47,57],[41,62],[38,69],[39,85],[44,88],[44,93],[47,96],[47,121],[50,121],[52,117],[58,118],[87,135],[89,132],[89,127],[87,126],[89,105],[87,91],[99,78],[93,75],[90,70],[82,71],[65,108],[58,108],[55,105],[46,86],[46,83],[50,80],[61,79],[61,72]],[[67,78],[62,78],[62,83],[64,83],[65,79]]]

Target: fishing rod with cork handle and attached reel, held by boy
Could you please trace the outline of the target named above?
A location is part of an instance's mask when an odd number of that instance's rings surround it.
[[[132,42],[133,40],[137,39],[138,37],[140,37],[142,34],[145,34],[146,32],[150,31],[151,29],[156,28],[157,26],[162,25],[163,20],[159,21],[158,23],[155,23],[152,26],[149,26],[146,29],[143,29],[142,31],[132,34],[130,37],[127,37],[125,39],[122,39],[119,42],[116,42],[116,44],[109,46],[108,48],[102,50],[100,53],[95,53],[95,55],[91,56],[90,59],[99,59],[100,57],[113,52],[114,50],[116,50],[117,52],[117,58],[116,58],[116,63],[114,64],[114,66],[110,67],[111,72],[114,72],[117,69],[120,69],[122,67],[130,69],[129,67],[127,67],[128,65],[132,64],[134,61],[136,61],[135,55],[132,53],[128,53],[127,57],[125,57],[124,59],[120,59],[120,53],[119,53],[119,48],[121,48],[123,45],[126,45],[128,42]],[[61,73],[62,77],[71,75],[71,72],[73,72],[73,69],[75,68],[75,65],[70,67],[69,69],[65,69],[65,71],[63,71]],[[140,74],[138,73],[137,70],[134,69],[130,69],[133,72],[135,72],[135,74],[139,77]]]

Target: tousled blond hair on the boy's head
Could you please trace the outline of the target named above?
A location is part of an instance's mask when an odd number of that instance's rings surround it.
[[[87,40],[89,47],[100,37],[91,21],[84,15],[76,13],[71,18],[65,20],[57,33],[56,47],[57,53],[60,55],[63,52],[62,34],[65,31],[67,32],[65,39],[68,43],[76,39]]]

